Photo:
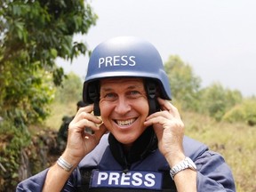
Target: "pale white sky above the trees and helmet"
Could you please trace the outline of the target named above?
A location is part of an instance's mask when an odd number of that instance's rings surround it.
[[[256,95],[256,0],[90,0],[99,19],[86,36],[90,49],[113,36],[141,36],[162,55],[188,63],[202,86],[219,82]],[[85,76],[88,59],[57,60]],[[172,88],[172,87],[171,87]]]

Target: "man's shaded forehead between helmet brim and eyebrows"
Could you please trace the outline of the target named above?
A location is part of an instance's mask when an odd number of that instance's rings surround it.
[[[133,84],[133,85],[142,85],[142,78],[134,78],[134,77],[115,77],[115,78],[106,78],[100,80],[100,87],[108,86],[108,85],[125,85],[125,84]]]

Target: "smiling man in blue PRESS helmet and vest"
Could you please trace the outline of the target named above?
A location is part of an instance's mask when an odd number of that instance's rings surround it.
[[[18,191],[235,191],[223,158],[184,136],[152,44],[121,36],[98,45],[83,97],[92,105],[69,124],[62,156]]]

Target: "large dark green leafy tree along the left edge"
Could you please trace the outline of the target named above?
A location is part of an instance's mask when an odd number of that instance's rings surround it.
[[[24,147],[31,144],[28,126],[47,116],[54,86],[65,77],[55,59],[72,61],[88,52],[85,42],[73,42],[72,38],[76,33],[86,34],[96,19],[90,4],[83,0],[0,0],[3,191],[13,191],[17,181],[29,176],[26,173],[19,179],[18,174],[20,154],[26,154]]]

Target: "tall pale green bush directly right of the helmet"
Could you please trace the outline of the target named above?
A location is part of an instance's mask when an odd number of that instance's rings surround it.
[[[164,68],[171,83],[172,98],[179,100],[182,108],[196,110],[201,79],[177,55],[171,56]]]

